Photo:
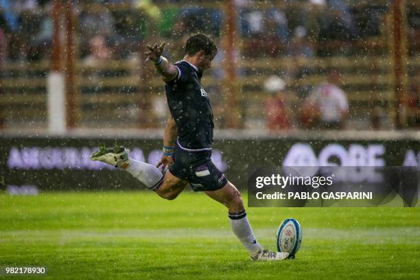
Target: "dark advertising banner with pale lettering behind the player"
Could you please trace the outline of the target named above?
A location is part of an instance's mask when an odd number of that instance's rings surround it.
[[[144,189],[130,174],[90,161],[99,145],[124,145],[130,157],[156,165],[160,139],[87,137],[1,137],[0,186],[10,192],[64,189]],[[415,140],[217,139],[213,162],[239,189],[246,189],[250,167],[420,166]]]

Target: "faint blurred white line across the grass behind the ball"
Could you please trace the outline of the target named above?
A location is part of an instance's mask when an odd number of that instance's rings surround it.
[[[259,240],[275,240],[277,229],[255,229]],[[389,229],[305,229],[305,242],[359,242],[361,244],[420,244],[420,227],[393,227]],[[121,240],[176,240],[220,239],[235,240],[229,229],[113,229],[109,231],[0,231],[3,242],[96,242]]]

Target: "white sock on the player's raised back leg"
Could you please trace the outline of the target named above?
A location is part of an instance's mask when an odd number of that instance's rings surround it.
[[[159,188],[163,181],[161,170],[151,164],[136,161],[135,159],[128,159],[128,166],[124,170],[154,191]]]

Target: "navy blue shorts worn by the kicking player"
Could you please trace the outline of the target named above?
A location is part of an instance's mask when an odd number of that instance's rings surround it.
[[[171,174],[186,180],[194,191],[215,191],[228,183],[226,176],[211,161],[211,150],[190,152],[176,143],[172,159]]]

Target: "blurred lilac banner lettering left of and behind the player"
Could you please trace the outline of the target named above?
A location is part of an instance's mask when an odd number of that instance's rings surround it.
[[[89,147],[23,147],[21,149],[12,147],[6,164],[10,170],[116,170],[112,165],[89,160],[89,156],[95,151],[97,151],[97,148]],[[156,165],[161,159],[161,154],[162,152],[159,150],[152,150],[148,156],[148,163]],[[139,148],[129,150],[129,156],[137,161],[145,161],[143,151]],[[214,164],[220,171],[224,172],[227,164],[222,161],[220,150],[213,150],[212,156]]]

